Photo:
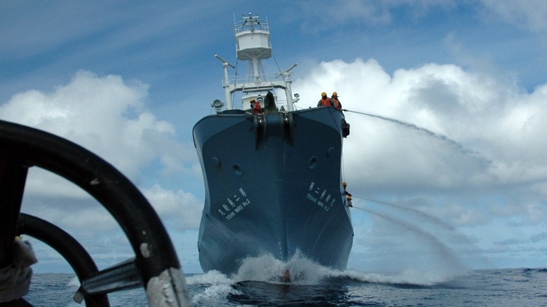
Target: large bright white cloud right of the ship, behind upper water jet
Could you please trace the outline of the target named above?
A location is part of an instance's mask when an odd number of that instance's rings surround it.
[[[344,163],[361,170],[346,173],[359,184],[461,189],[547,178],[546,86],[523,93],[450,64],[389,76],[358,59],[322,62],[294,88],[317,99],[337,91],[354,112],[346,113]]]

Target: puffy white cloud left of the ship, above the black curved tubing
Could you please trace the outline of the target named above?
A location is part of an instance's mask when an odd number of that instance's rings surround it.
[[[136,180],[150,163],[163,168],[196,162],[191,144],[175,140],[172,124],[146,108],[148,86],[121,76],[78,71],[51,93],[28,90],[0,106],[0,118],[52,132],[90,149]],[[178,167],[177,170],[184,170]]]

